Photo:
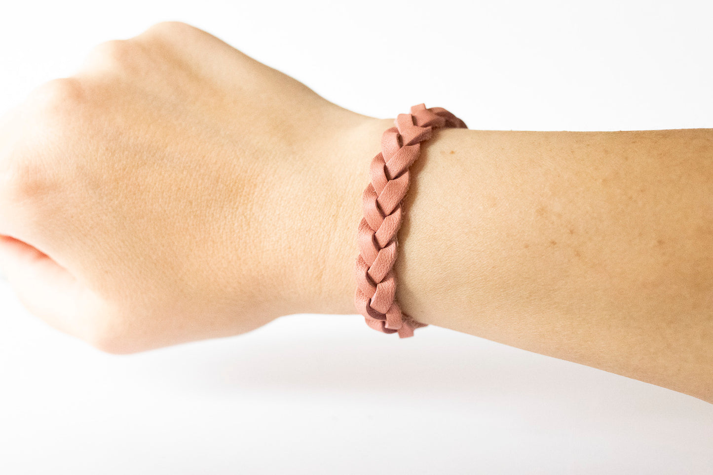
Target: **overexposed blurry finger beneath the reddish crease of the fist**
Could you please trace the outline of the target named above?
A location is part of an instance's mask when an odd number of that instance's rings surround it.
[[[35,247],[6,235],[0,235],[0,268],[29,312],[84,339],[80,303],[86,292],[73,275]]]

